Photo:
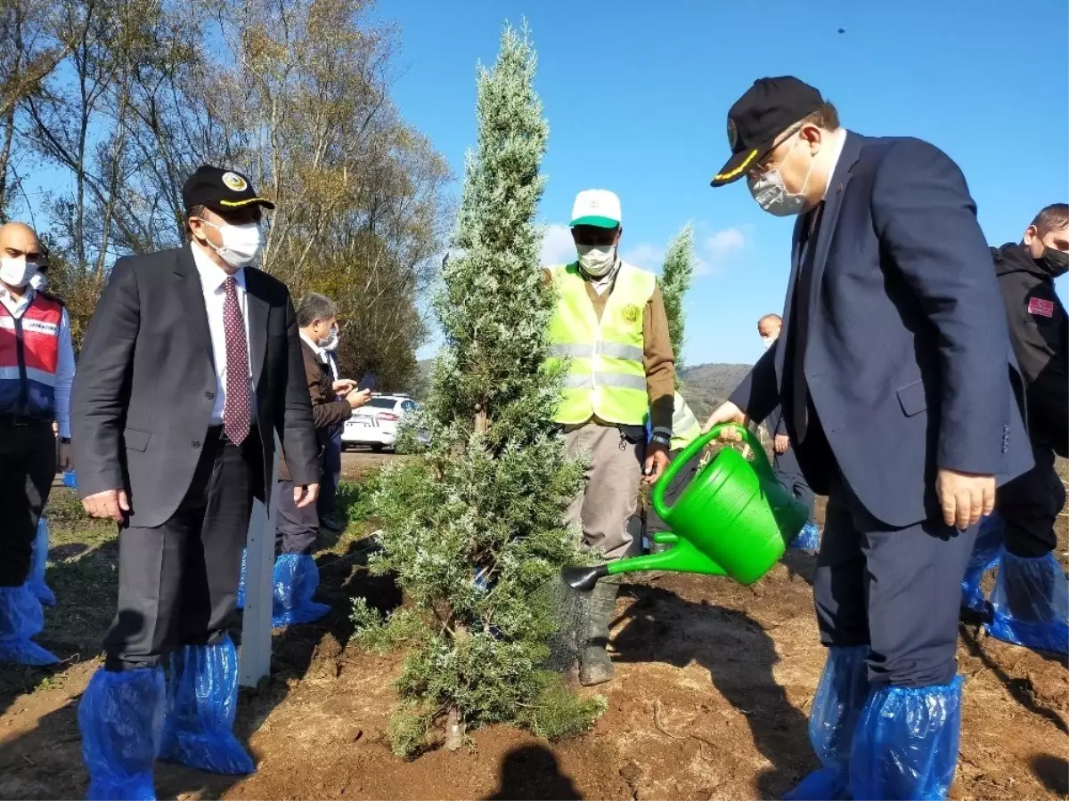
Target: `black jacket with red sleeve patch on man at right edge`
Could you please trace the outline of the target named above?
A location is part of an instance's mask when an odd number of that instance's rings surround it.
[[[991,249],[1010,340],[1027,388],[1028,435],[1069,456],[1069,319],[1049,268],[1022,245]]]

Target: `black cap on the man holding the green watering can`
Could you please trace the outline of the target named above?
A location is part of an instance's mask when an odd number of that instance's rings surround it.
[[[823,103],[820,92],[790,75],[754,81],[728,111],[731,158],[713,176],[712,185],[724,186],[743,177],[754,163],[779,144],[777,137],[817,111]]]

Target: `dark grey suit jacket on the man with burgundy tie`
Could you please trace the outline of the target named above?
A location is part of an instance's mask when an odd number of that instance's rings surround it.
[[[251,267],[245,285],[266,491],[276,433],[294,481],[315,484],[319,449],[290,293]],[[86,332],[71,398],[80,496],[125,487],[130,525],[165,523],[192,482],[215,393],[212,335],[189,246],[120,258]]]

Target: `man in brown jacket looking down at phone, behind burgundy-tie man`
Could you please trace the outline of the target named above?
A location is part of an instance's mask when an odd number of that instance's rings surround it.
[[[357,392],[354,381],[334,379],[325,348],[336,335],[337,318],[338,307],[325,295],[309,293],[297,305],[304,375],[312,398],[312,420],[324,458],[334,428],[348,420],[354,409],[359,409],[371,399],[370,390]],[[338,399],[339,394],[343,399]],[[312,601],[320,583],[320,572],[312,559],[312,546],[319,536],[319,511],[314,504],[300,507],[294,502],[297,493],[294,492],[285,459],[279,466],[276,541],[279,554],[275,561],[272,614],[275,627],[311,623],[329,610],[329,607]]]

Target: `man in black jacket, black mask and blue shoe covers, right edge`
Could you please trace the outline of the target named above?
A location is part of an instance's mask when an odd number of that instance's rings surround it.
[[[1036,466],[1000,491],[962,585],[964,602],[988,613],[980,579],[997,561],[988,631],[1018,645],[1069,654],[1069,581],[1053,553],[1054,523],[1066,501],[1054,458],[1069,456],[1069,318],[1054,292],[1054,279],[1069,272],[1069,204],[1048,206],[1021,244],[992,253],[1027,387]]]

